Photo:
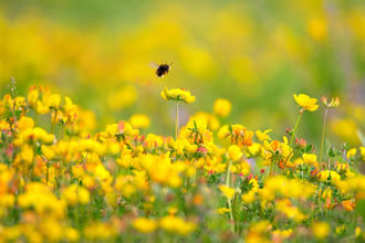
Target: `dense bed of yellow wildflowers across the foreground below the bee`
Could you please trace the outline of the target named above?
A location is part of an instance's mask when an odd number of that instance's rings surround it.
[[[165,88],[161,96],[195,101],[182,89]],[[300,117],[317,108],[305,95],[294,97]],[[142,114],[91,135],[85,113],[69,97],[61,101],[38,86],[28,98],[3,98],[1,242],[365,239],[357,220],[365,216],[365,177],[353,169],[364,163],[364,147],[325,144],[326,162],[320,162],[323,155],[296,129],[289,134],[293,144],[237,124],[215,134],[199,117],[220,123],[231,109],[226,99],[213,105],[218,117],[192,116],[175,139],[140,134],[136,127],[149,126]],[[331,104],[324,103],[340,102]],[[50,127],[42,128],[46,115]]]

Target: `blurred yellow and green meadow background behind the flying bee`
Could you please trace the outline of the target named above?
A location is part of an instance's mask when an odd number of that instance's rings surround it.
[[[221,126],[271,128],[281,139],[298,118],[293,94],[307,94],[341,101],[328,114],[330,144],[358,146],[356,129],[365,129],[362,0],[2,0],[0,33],[1,95],[10,76],[22,96],[49,86],[81,106],[94,131],[137,113],[152,122],[143,134],[174,135],[165,86],[197,97],[180,104],[181,125],[227,98]],[[153,60],[174,62],[170,73],[156,77]],[[323,115],[320,104],[299,127],[317,150]]]

